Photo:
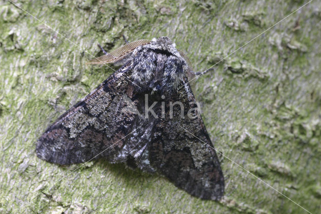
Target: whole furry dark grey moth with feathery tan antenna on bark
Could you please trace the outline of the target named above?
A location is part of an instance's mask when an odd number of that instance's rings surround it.
[[[37,156],[60,165],[104,158],[166,176],[193,196],[221,199],[224,177],[189,82],[195,73],[187,55],[159,37],[89,63],[122,66],[47,128]]]

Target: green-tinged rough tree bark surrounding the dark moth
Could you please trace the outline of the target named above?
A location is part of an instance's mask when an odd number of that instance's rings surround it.
[[[109,51],[124,44],[122,34],[169,36],[203,71],[303,1],[15,3],[82,49],[0,3],[1,212],[304,211],[222,156],[226,192],[215,202],[123,165],[77,169],[35,155],[45,128],[117,69],[85,65],[102,54],[98,43]],[[201,76],[195,91],[215,147],[311,212],[321,209],[320,11],[311,2]]]

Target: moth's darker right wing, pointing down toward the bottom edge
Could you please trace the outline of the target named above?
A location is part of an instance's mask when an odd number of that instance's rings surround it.
[[[184,104],[185,117],[181,117],[180,105],[174,105],[173,119],[169,113],[165,119],[156,119],[144,156],[157,172],[191,195],[219,200],[224,193],[223,173],[196,104],[190,103],[195,101],[190,85],[182,84],[168,99]],[[195,119],[187,117],[192,109],[195,111],[190,114]]]

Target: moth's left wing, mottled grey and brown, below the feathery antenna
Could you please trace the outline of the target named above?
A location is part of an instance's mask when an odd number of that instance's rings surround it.
[[[73,164],[97,156],[112,163],[126,161],[124,150],[137,116],[127,107],[125,97],[132,96],[129,64],[122,66],[95,90],[75,104],[40,137],[37,156],[57,164]]]

